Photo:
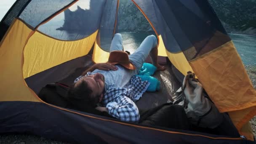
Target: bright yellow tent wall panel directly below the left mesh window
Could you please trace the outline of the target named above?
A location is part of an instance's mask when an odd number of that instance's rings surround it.
[[[63,41],[35,32],[24,48],[24,78],[87,55],[93,46],[97,33],[98,30],[82,40]]]

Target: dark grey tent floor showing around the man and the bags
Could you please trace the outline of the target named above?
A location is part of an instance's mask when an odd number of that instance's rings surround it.
[[[66,63],[60,64],[44,72],[25,79],[29,88],[35,93],[39,93],[41,88],[49,83],[59,82],[66,85],[71,85],[75,78],[79,77],[81,73],[93,65],[91,55],[83,56]],[[173,93],[181,86],[182,78],[177,75],[176,69],[173,69],[171,63],[163,64],[166,68],[165,71],[155,72],[156,77],[161,82],[160,91],[145,92],[144,95],[136,101],[139,111],[145,111],[161,104],[172,101]],[[176,78],[178,77],[178,79]],[[224,114],[224,121],[215,129],[207,128],[192,128],[191,131],[199,131],[204,133],[212,133],[224,136],[239,136],[235,126],[232,124],[229,116]]]

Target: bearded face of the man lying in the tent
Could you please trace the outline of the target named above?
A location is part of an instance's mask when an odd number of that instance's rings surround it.
[[[103,92],[105,89],[104,75],[100,73],[96,73],[94,75],[85,76],[81,80],[77,81],[77,83],[75,83],[75,86],[79,85],[82,81],[86,81],[88,83],[88,86],[92,90],[92,96],[94,97],[100,96],[99,98],[99,102],[100,102],[102,100]]]

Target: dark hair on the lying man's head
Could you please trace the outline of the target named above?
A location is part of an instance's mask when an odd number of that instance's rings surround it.
[[[86,81],[82,81],[80,84],[75,86],[72,85],[68,91],[69,101],[80,108],[84,107],[96,107],[96,104],[99,102],[99,96],[93,96],[92,90],[88,86]]]

